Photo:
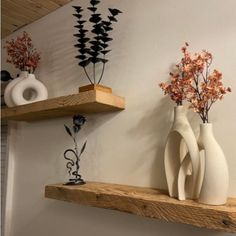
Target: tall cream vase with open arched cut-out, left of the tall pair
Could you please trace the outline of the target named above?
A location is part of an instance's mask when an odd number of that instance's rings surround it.
[[[201,187],[199,149],[183,106],[174,109],[174,122],[166,142],[164,164],[169,195],[179,200],[198,198]]]

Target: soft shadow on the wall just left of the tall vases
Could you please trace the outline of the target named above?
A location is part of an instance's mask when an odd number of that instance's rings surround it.
[[[154,152],[154,161],[150,170],[150,186],[162,189],[167,188],[164,171],[164,147],[167,135],[169,133],[173,114],[173,102],[164,97],[158,102],[153,110],[145,111],[142,119],[131,129],[129,134],[132,137],[145,137],[148,139],[146,151]],[[142,129],[140,129],[142,127]],[[145,152],[141,155],[146,155]],[[148,158],[148,156],[145,156]],[[141,166],[143,159],[136,163],[137,167]]]

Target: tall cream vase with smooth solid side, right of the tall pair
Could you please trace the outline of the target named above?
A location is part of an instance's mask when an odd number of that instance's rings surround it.
[[[215,140],[212,124],[200,125],[199,148],[205,153],[205,170],[199,202],[223,205],[227,201],[229,172],[225,155]]]

